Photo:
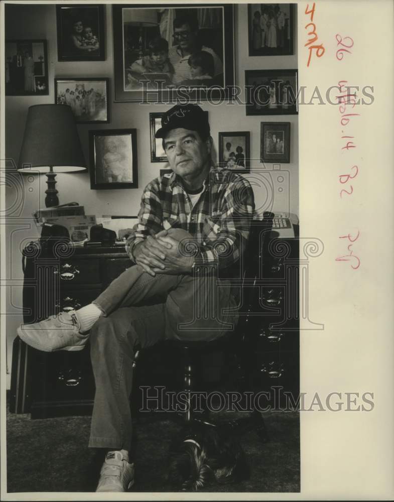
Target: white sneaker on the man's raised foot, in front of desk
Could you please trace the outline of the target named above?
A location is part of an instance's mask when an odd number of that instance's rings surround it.
[[[34,324],[22,324],[19,337],[28,345],[45,352],[55,350],[82,350],[89,335],[79,332],[79,322],[74,311],[62,312]]]

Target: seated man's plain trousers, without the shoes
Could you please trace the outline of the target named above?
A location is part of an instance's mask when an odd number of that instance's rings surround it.
[[[93,302],[105,313],[90,332],[96,384],[89,446],[126,449],[132,437],[129,396],[135,347],[164,339],[212,340],[235,328],[230,285],[196,267],[193,276],[157,274],[136,265]],[[147,305],[157,296],[160,303]],[[236,310],[236,309],[235,309]]]

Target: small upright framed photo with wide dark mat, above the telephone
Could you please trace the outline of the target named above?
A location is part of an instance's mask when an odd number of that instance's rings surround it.
[[[261,122],[260,159],[290,163],[290,122]]]

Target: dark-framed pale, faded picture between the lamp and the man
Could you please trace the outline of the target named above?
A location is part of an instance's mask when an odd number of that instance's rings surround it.
[[[90,188],[138,188],[137,129],[89,131]]]

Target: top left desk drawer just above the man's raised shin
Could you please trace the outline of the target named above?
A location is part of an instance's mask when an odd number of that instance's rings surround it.
[[[60,262],[59,274],[61,284],[99,284],[100,278],[100,260],[78,260],[66,259]]]

